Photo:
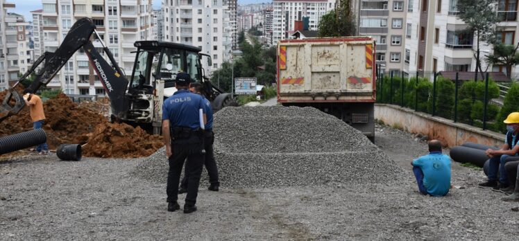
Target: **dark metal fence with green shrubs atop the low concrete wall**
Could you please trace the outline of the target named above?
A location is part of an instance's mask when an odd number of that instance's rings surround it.
[[[496,132],[503,131],[496,123],[508,89],[507,84],[493,82],[488,73],[474,81],[459,80],[459,73],[451,80],[434,72],[377,72],[378,103],[400,105]]]

